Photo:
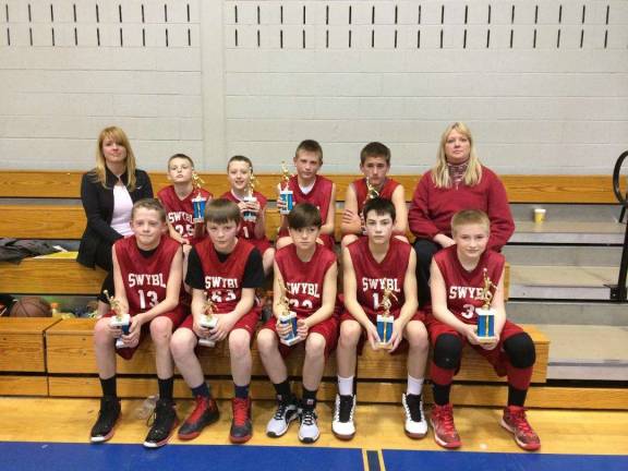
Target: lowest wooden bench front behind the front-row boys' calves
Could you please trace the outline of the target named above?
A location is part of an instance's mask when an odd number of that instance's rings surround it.
[[[48,372],[52,374],[97,374],[96,359],[92,340],[94,319],[63,319],[46,331]],[[534,326],[523,326],[536,346],[536,365],[532,381],[545,383],[547,374],[548,340]],[[254,376],[265,376],[266,371],[255,347],[252,349]],[[299,349],[287,360],[288,374],[300,376],[304,352]],[[216,348],[200,349],[204,371],[213,376],[229,376],[231,366],[227,342]],[[404,354],[389,355],[385,351],[373,351],[365,347],[358,361],[360,379],[400,379],[408,374]],[[458,381],[503,382],[488,363],[470,348],[464,349],[463,367],[456,377]],[[154,347],[145,339],[131,361],[118,359],[118,372],[124,374],[155,374]],[[325,376],[336,377],[336,359],[327,362]]]

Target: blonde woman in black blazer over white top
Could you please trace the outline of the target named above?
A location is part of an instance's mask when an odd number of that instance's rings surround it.
[[[87,227],[81,239],[81,265],[98,266],[108,271],[98,295],[98,315],[109,310],[108,290],[113,295],[111,246],[118,239],[130,235],[133,203],[153,197],[148,174],[135,168],[135,156],[129,138],[120,128],[105,128],[98,136],[96,168],[83,174],[81,200],[87,216]]]

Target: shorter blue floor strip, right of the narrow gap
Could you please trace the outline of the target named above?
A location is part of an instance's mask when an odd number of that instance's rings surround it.
[[[551,455],[535,452],[470,452],[383,450],[386,471],[504,470],[504,471],[626,471],[628,457],[611,455]]]

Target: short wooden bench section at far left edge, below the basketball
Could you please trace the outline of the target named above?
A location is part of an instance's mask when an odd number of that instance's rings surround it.
[[[0,371],[45,372],[44,331],[58,322],[51,317],[0,317]]]

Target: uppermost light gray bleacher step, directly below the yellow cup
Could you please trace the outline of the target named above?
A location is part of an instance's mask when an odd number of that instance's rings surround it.
[[[626,225],[613,221],[515,221],[511,243],[623,244]]]

